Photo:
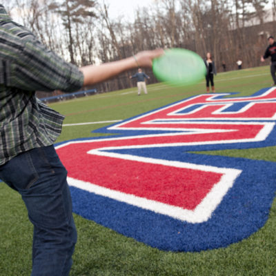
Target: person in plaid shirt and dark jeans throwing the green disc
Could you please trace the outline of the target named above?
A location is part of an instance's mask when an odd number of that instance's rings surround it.
[[[34,225],[32,275],[68,275],[77,231],[66,169],[52,146],[63,115],[36,90],[73,92],[139,66],[151,67],[163,50],[77,68],[14,23],[0,4],[0,179],[17,190]]]

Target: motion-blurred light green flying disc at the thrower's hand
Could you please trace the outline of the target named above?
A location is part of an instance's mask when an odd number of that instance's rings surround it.
[[[206,76],[204,60],[195,52],[172,48],[152,61],[152,71],[159,81],[172,86],[188,86]]]

